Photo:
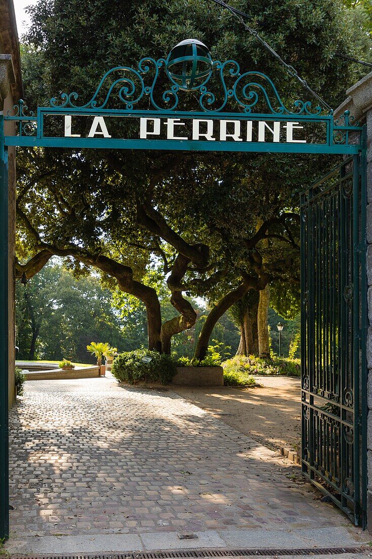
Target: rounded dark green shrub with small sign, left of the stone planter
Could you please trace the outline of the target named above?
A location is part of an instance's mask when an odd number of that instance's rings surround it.
[[[142,361],[151,357],[150,363]],[[175,375],[175,363],[169,355],[136,349],[120,353],[112,363],[111,373],[119,382],[137,384],[138,382],[158,382],[166,384]]]

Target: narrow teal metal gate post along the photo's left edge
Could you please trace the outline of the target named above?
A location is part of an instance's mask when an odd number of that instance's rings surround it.
[[[9,536],[8,457],[8,150],[0,115],[0,538]]]

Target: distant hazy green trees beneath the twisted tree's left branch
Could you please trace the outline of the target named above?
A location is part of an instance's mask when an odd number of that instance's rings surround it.
[[[76,279],[58,258],[26,286],[17,284],[16,320],[17,359],[59,361],[66,357],[87,362],[86,348],[92,339],[106,339],[126,349],[123,321],[111,292],[102,288],[97,276]]]

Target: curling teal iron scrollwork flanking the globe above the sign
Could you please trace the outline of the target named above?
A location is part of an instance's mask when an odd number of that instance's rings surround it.
[[[79,98],[77,92],[61,93],[59,99],[52,97],[50,106],[55,108],[110,108],[109,102],[115,98],[123,104],[125,110],[138,108],[140,101],[149,97],[152,108],[156,111],[175,110],[179,105],[180,88],[170,79],[166,68],[166,60],[147,57],[140,60],[137,68],[118,66],[112,68],[103,75],[93,97],[84,105],[78,105]],[[165,69],[164,75],[160,70]],[[216,80],[213,84],[216,91],[212,91],[210,79],[218,73],[218,84]],[[146,78],[152,75],[150,83],[146,83]],[[164,77],[169,79],[170,87],[160,96],[164,106],[160,106],[155,97],[158,89],[164,87]],[[233,83],[228,84],[230,80]],[[284,105],[282,98],[273,83],[265,74],[256,71],[240,73],[240,66],[235,60],[221,62],[216,60],[212,65],[212,72],[208,79],[201,86],[194,88],[193,93],[199,94],[199,107],[204,112],[220,112],[229,100],[239,106],[245,113],[253,113],[254,108],[263,102],[272,115],[288,116],[318,116],[322,112],[322,107],[312,107],[310,101],[296,100],[293,103],[293,110]],[[102,101],[99,98],[102,96]],[[220,101],[218,101],[220,100]]]

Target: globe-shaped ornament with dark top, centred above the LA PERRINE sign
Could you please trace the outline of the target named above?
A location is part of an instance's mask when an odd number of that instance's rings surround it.
[[[209,49],[197,39],[185,39],[174,46],[166,59],[169,79],[184,91],[193,91],[208,82],[213,61]]]

